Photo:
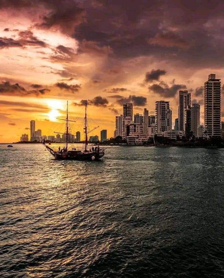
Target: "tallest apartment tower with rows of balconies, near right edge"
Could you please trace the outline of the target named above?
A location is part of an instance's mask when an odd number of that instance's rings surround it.
[[[204,83],[204,125],[208,136],[220,136],[221,79],[209,74]]]

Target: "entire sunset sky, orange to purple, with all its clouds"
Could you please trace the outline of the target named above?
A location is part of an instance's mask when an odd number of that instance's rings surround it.
[[[74,132],[85,99],[100,126],[91,135],[113,136],[124,102],[154,114],[155,101],[170,101],[174,123],[180,89],[201,104],[203,124],[204,82],[224,77],[223,10],[222,1],[0,0],[0,142],[30,138],[30,120],[42,135],[63,131],[67,100]]]

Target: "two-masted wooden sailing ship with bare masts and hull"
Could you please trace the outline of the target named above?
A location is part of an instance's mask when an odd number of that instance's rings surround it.
[[[89,150],[87,150],[88,145],[88,137],[87,134],[91,131],[95,130],[99,126],[95,127],[94,129],[87,131],[87,116],[86,116],[86,109],[87,109],[87,100],[85,103],[85,118],[84,118],[84,134],[85,134],[85,149],[82,150],[76,150],[76,148],[72,148],[71,150],[68,149],[68,137],[72,134],[68,132],[68,122],[75,122],[68,119],[68,101],[67,101],[67,117],[66,119],[58,119],[58,120],[65,120],[66,121],[66,132],[55,132],[58,134],[65,134],[66,135],[66,147],[62,149],[58,149],[58,151],[55,151],[53,148],[50,148],[47,144],[45,144],[45,140],[43,139],[41,143],[47,148],[47,150],[54,156],[57,160],[98,160],[102,158],[105,154],[105,148],[98,147],[92,147]],[[76,136],[76,135],[74,135]]]

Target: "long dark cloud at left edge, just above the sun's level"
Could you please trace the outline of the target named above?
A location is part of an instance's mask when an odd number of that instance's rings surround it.
[[[11,84],[9,81],[0,83],[0,95],[15,95],[15,96],[28,96],[28,95],[40,95],[44,94],[46,91],[50,91],[49,89],[41,89],[41,90],[26,90],[24,87],[16,84]]]

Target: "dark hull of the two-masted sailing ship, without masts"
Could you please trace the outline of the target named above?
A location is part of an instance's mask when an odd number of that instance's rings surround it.
[[[52,148],[44,144],[44,146],[49,150],[49,152],[54,156],[56,160],[99,160],[104,156],[104,149],[100,149],[99,151],[77,151],[72,150],[66,153],[55,152]]]

